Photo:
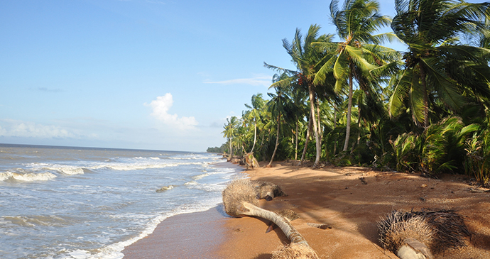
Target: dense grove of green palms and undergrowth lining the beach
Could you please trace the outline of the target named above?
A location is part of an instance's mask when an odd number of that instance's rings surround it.
[[[284,39],[294,68],[264,62],[276,72],[269,98],[254,94],[227,120],[224,152],[489,184],[490,4],[395,4],[390,18],[376,0],[333,0],[337,31],[320,35],[315,24]]]

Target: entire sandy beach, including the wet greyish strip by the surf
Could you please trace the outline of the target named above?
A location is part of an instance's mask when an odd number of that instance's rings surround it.
[[[393,209],[452,209],[464,216],[472,231],[467,246],[442,250],[435,258],[490,258],[490,192],[464,175],[441,179],[418,174],[380,172],[361,167],[296,167],[276,162],[271,168],[243,173],[251,180],[280,185],[288,194],[261,207],[292,209],[300,219],[291,223],[320,258],[397,258],[379,243],[376,222]],[[307,223],[321,223],[320,229]],[[150,236],[126,247],[131,258],[271,258],[288,243],[279,228],[266,233],[268,221],[231,218],[218,206],[196,214],[165,219]]]

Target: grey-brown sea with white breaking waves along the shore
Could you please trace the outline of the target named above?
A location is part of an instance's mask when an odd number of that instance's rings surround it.
[[[122,258],[238,172],[211,153],[0,144],[0,258]]]

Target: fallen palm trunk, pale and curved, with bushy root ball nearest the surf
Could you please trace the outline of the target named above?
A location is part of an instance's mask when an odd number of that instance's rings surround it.
[[[293,254],[295,254],[297,252],[297,248],[301,248],[299,249],[302,251],[300,253],[307,254],[305,254],[303,257],[297,256],[296,258],[318,258],[315,250],[310,248],[305,238],[303,238],[303,236],[301,236],[301,234],[290,224],[288,219],[274,213],[273,211],[268,211],[258,207],[258,199],[256,199],[257,194],[255,192],[254,185],[250,180],[234,180],[227,186],[226,189],[224,189],[222,194],[224,211],[226,211],[229,216],[258,216],[263,219],[268,219],[281,228],[285,236],[291,241],[291,245],[287,248],[283,248],[283,250],[294,250]],[[283,256],[280,254],[278,256],[280,257],[276,258],[288,258],[285,257],[286,255]]]

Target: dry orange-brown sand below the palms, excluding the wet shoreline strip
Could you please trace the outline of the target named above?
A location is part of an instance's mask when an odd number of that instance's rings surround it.
[[[359,167],[311,170],[295,167],[292,162],[279,164],[244,173],[252,180],[283,187],[287,197],[271,202],[261,200],[261,206],[272,211],[297,212],[300,219],[292,224],[320,258],[397,258],[381,248],[376,221],[392,209],[423,208],[457,210],[466,217],[465,222],[473,232],[466,248],[445,250],[435,258],[490,258],[490,192],[475,192],[477,188],[469,185],[467,177],[444,175],[441,180],[434,180]],[[332,228],[307,226],[310,222]],[[228,238],[216,251],[217,258],[271,258],[273,250],[286,243],[287,238],[279,228],[265,233],[267,223],[254,218],[224,221]]]

